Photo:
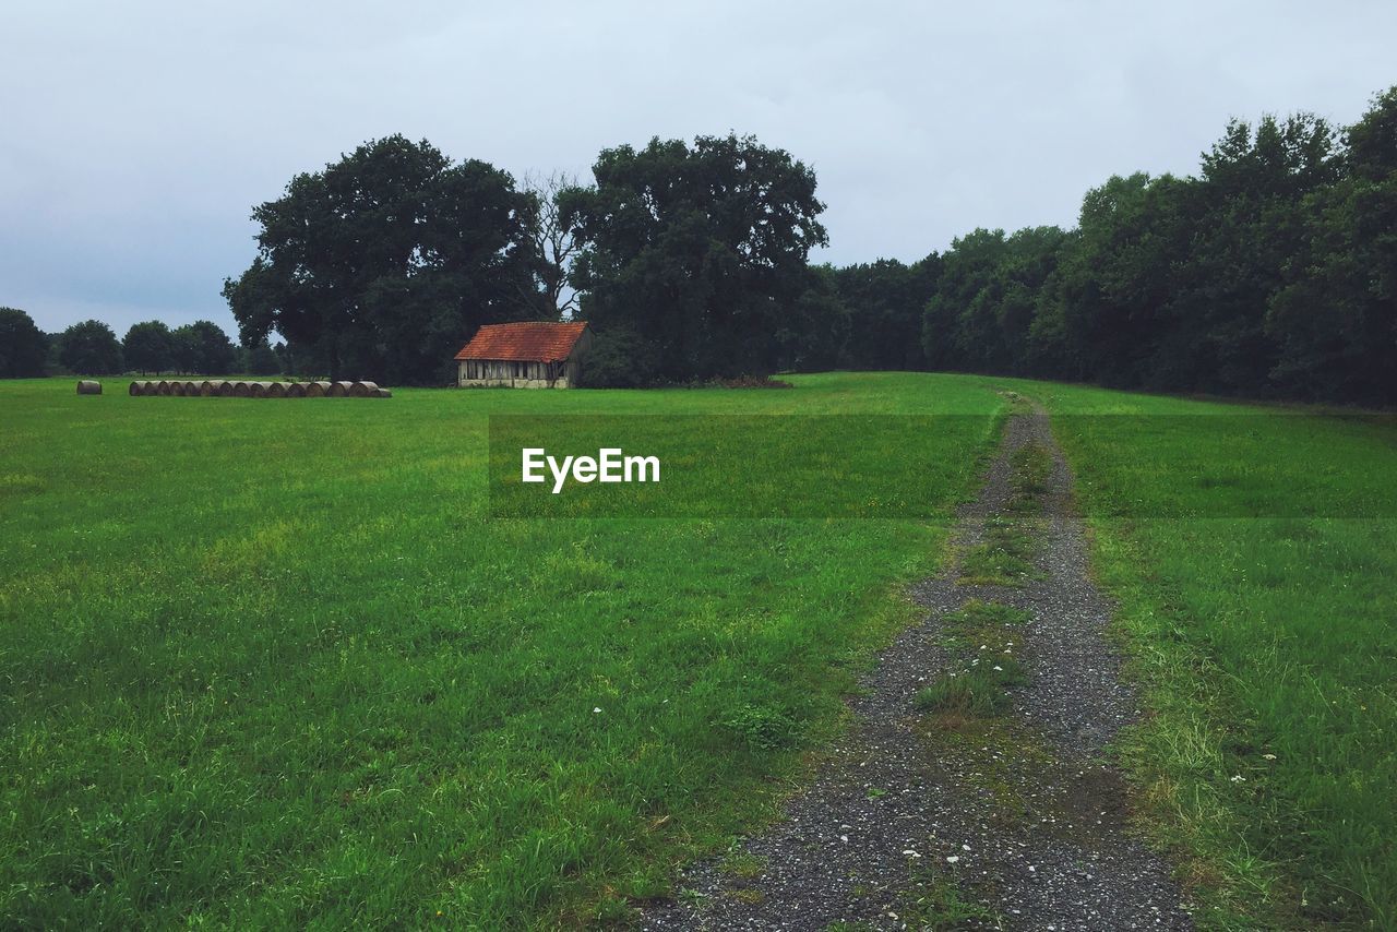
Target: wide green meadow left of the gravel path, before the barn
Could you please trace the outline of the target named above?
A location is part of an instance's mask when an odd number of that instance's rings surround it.
[[[622,915],[773,812],[946,527],[490,518],[488,415],[963,414],[898,461],[949,514],[1002,409],[916,374],[106,388],[0,383],[4,926]]]

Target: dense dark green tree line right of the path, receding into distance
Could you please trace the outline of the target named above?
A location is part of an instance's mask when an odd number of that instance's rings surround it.
[[[824,268],[789,367],[933,369],[1397,404],[1397,88],[1352,126],[1234,120],[1193,176],[1115,176],[1077,226]],[[802,355],[805,354],[805,355]]]

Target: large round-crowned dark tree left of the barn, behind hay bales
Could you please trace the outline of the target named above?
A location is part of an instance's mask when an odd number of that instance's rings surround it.
[[[224,296],[243,342],[275,330],[332,379],[437,381],[479,324],[541,316],[534,215],[506,172],[373,140],[253,211],[257,259]]]

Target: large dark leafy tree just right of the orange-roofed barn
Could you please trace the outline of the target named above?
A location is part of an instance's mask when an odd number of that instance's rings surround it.
[[[581,316],[655,347],[664,379],[770,373],[809,252],[828,242],[814,172],[729,134],[604,150],[592,175],[559,198],[584,243]]]

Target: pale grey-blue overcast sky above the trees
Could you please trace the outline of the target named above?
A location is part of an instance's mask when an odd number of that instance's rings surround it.
[[[1390,0],[4,0],[0,306],[236,334],[253,205],[393,133],[515,177],[753,133],[816,170],[813,259],[912,261],[1194,172],[1231,117],[1351,123],[1397,84]]]

